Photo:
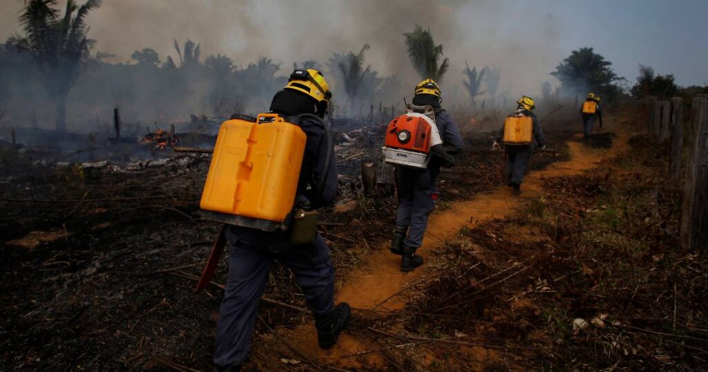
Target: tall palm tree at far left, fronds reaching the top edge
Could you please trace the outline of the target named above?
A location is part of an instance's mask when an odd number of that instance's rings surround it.
[[[101,0],[89,0],[82,6],[67,0],[64,16],[59,16],[55,5],[57,0],[25,1],[20,16],[25,35],[13,42],[32,53],[45,89],[55,99],[56,128],[64,132],[69,90],[81,72],[79,67],[90,57],[92,43],[86,37],[86,16],[101,6]]]

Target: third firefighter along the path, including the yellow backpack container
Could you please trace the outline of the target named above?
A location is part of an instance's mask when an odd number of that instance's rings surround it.
[[[526,164],[536,147],[545,148],[543,130],[533,113],[536,108],[532,98],[521,97],[515,113],[508,115],[494,141],[493,148],[500,148],[503,142],[507,157],[507,186],[513,188],[514,195],[521,193]]]

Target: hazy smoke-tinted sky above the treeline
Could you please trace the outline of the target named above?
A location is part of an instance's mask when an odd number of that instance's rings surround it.
[[[18,33],[22,4],[0,0],[0,40]],[[325,62],[369,43],[367,64],[404,79],[414,73],[401,33],[420,23],[452,60],[446,79],[462,79],[468,61],[501,67],[501,91],[539,91],[557,84],[548,73],[583,46],[632,84],[639,63],[680,85],[708,84],[707,14],[708,0],[104,0],[88,22],[96,49],[117,62],[143,47],[175,57],[172,39],[190,38],[202,57],[222,53],[243,66],[267,55],[289,71],[293,61]]]

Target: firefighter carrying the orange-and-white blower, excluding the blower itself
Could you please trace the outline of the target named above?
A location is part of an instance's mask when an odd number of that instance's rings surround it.
[[[433,106],[435,125],[442,138],[442,147],[450,157],[462,151],[462,136],[450,114],[440,106],[442,95],[440,86],[433,79],[425,79],[416,85],[413,104]],[[423,244],[423,235],[428,226],[428,215],[433,211],[435,181],[440,174],[441,162],[433,158],[428,169],[396,167],[399,192],[399,208],[396,227],[391,242],[391,252],[401,255],[401,271],[407,272],[423,264],[423,257],[416,250]],[[446,164],[451,165],[451,164]]]

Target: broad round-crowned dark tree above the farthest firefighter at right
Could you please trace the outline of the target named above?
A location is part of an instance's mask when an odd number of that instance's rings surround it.
[[[598,55],[591,47],[573,50],[551,74],[561,81],[561,91],[570,94],[585,94],[595,91],[612,96],[619,91],[614,83],[621,81],[612,68],[612,62]]]

